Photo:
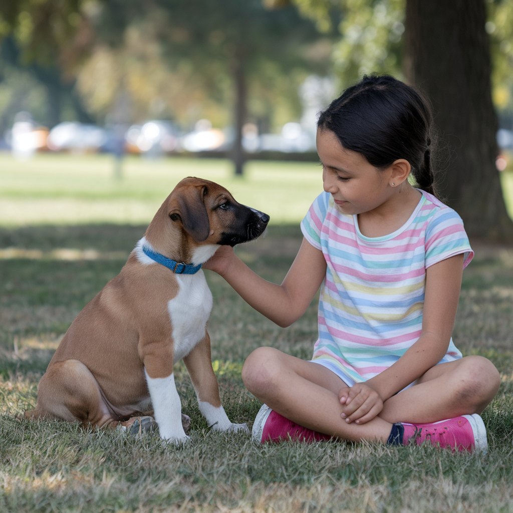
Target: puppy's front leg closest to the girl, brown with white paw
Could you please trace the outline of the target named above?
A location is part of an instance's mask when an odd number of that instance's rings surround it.
[[[202,415],[212,429],[217,431],[246,431],[246,424],[234,424],[228,419],[219,397],[218,380],[212,370],[210,356],[210,338],[205,338],[184,358],[185,366],[191,377],[192,385],[198,397]]]

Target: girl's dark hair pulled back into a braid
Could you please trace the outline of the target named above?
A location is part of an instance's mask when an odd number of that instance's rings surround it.
[[[410,163],[417,185],[436,195],[431,169],[431,108],[416,89],[390,75],[365,75],[319,115],[342,146],[378,169],[397,159]]]

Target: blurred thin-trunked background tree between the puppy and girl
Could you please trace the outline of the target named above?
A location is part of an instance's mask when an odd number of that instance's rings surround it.
[[[256,120],[260,125],[269,124],[277,97],[285,104],[292,99],[298,112],[299,85],[308,73],[327,72],[330,46],[319,45],[321,36],[314,24],[291,5],[266,7],[262,0],[224,0],[221,5],[210,0],[175,0],[163,1],[161,6],[160,12],[154,11],[153,26],[158,17],[157,38],[173,67],[185,63],[189,83],[204,85],[207,97],[222,94],[223,83],[230,85],[232,158],[235,173],[242,174],[243,125],[249,114],[253,120],[257,115],[256,108],[249,112],[248,98],[267,98]],[[286,79],[288,93],[282,82],[283,94],[276,94],[277,77]]]

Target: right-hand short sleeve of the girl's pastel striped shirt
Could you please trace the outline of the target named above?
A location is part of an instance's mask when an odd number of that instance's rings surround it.
[[[463,267],[474,256],[463,221],[449,207],[440,209],[426,229],[426,269],[442,260],[462,254]]]

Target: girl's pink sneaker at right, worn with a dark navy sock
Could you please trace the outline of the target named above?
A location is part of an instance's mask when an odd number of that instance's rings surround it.
[[[483,419],[477,413],[429,424],[408,424],[404,427],[403,443],[420,445],[426,441],[432,445],[459,450],[486,453],[488,442]]]

